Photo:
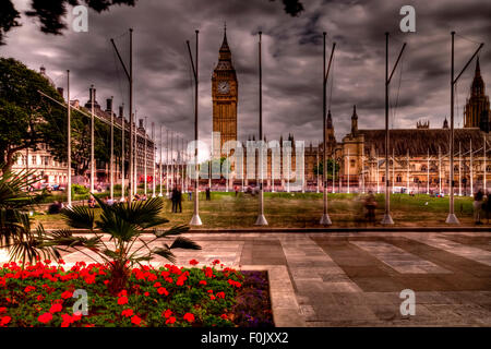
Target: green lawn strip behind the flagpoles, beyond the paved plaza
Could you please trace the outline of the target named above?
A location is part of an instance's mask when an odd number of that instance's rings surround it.
[[[383,216],[384,195],[378,194],[376,226]],[[203,228],[250,228],[258,217],[258,196],[239,193],[212,193],[212,200],[205,201],[200,193],[200,217]],[[96,209],[97,210],[97,209]],[[265,193],[264,210],[270,227],[321,227],[322,193]],[[448,213],[447,197],[430,197],[426,194],[408,196],[393,194],[391,212],[396,226],[424,227],[446,226]],[[366,226],[363,213],[363,195],[330,194],[328,213],[333,227]],[[455,197],[455,213],[463,226],[472,226],[472,198]],[[188,224],[193,214],[193,203],[183,194],[182,213],[172,214],[171,203],[166,200],[164,215],[170,219],[166,226]],[[45,228],[62,228],[64,222],[60,215],[35,214]],[[487,222],[487,220],[483,220]]]

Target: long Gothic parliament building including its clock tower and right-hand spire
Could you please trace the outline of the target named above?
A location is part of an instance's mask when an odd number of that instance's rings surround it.
[[[227,41],[227,34],[218,53],[218,63],[212,75],[213,131],[219,132],[219,148],[228,141],[237,141],[239,83],[232,64],[232,56]],[[383,192],[385,182],[385,130],[358,128],[356,106],[351,112],[351,130],[340,141],[334,135],[333,116],[326,118],[326,156],[334,161],[334,176],[327,173],[328,191]],[[455,129],[454,143],[454,181],[456,194],[468,195],[478,189],[489,188],[491,161],[487,155],[491,148],[491,111],[489,97],[486,95],[484,81],[481,75],[479,58],[476,61],[470,93],[464,109],[464,128]],[[450,128],[448,121],[442,120],[440,128],[430,128],[429,121],[418,121],[415,129],[390,130],[390,178],[393,191],[442,193],[450,188]],[[295,148],[292,134],[288,135]],[[215,148],[218,142],[214,140]],[[283,137],[279,140],[283,144]],[[291,164],[280,157],[279,168],[272,166],[272,151],[267,153],[267,171],[264,174],[265,190],[287,190],[288,183],[302,177],[302,191],[322,189],[322,177],[316,172],[322,161],[322,144],[306,145],[304,161],[297,171],[295,149]],[[214,155],[217,156],[217,149]],[[244,154],[247,149],[243,149]],[[280,148],[283,155],[283,147]],[[219,154],[218,156],[226,156]],[[244,160],[247,157],[244,157]],[[277,164],[277,163],[275,163]],[[243,165],[247,168],[247,165]],[[327,166],[330,168],[330,166]],[[333,166],[331,166],[333,168]],[[285,173],[291,173],[287,179]],[[303,172],[303,176],[302,176]],[[280,173],[278,176],[278,173]],[[272,176],[273,174],[273,176]],[[242,181],[240,176],[231,173],[230,185],[255,184],[255,180]],[[275,180],[272,180],[275,177]],[[239,180],[240,178],[240,180]],[[298,188],[296,190],[299,190]]]

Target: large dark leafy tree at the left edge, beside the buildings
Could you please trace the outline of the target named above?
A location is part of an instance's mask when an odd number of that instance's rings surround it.
[[[0,58],[0,165],[9,170],[19,152],[36,151],[51,136],[47,124],[60,123],[64,111],[39,92],[63,103],[58,91],[41,74],[23,63]]]

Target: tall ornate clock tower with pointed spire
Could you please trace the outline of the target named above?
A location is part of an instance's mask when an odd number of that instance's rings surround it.
[[[225,142],[237,141],[238,87],[225,28],[218,63],[212,75],[213,132],[220,133],[220,149]]]

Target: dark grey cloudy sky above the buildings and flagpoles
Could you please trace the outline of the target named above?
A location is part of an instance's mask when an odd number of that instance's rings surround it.
[[[72,99],[85,103],[88,87],[97,100],[115,96],[125,103],[128,85],[115,61],[109,38],[117,38],[128,55],[129,27],[134,28],[134,81],[137,118],[193,136],[193,88],[185,40],[194,43],[200,29],[200,137],[212,131],[211,75],[218,58],[224,22],[239,80],[239,139],[258,132],[258,36],[263,32],[263,118],[268,140],[289,132],[307,142],[322,137],[322,32],[337,43],[332,92],[333,121],[338,141],[349,132],[352,105],[360,128],[384,127],[384,32],[391,39],[391,62],[402,41],[408,47],[392,83],[394,128],[414,128],[429,119],[440,128],[450,115],[451,31],[456,31],[456,73],[478,47],[488,93],[491,82],[491,1],[348,1],[302,0],[306,11],[291,17],[279,0],[140,0],[135,8],[115,7],[89,12],[88,33],[70,29],[47,36],[38,23],[22,17],[12,29],[3,57],[14,57],[32,69],[46,67],[58,86],[64,87],[71,70]],[[25,10],[27,0],[14,1]],[[414,34],[399,31],[399,9],[416,8]],[[67,19],[70,20],[70,19]],[[192,46],[194,47],[194,46]],[[456,127],[463,124],[475,63],[458,83]],[[399,81],[400,79],[400,81]],[[398,88],[400,84],[400,88]],[[331,88],[330,88],[331,89]],[[330,95],[330,93],[328,93]],[[149,124],[149,123],[148,123]]]

